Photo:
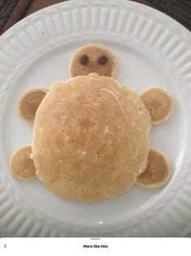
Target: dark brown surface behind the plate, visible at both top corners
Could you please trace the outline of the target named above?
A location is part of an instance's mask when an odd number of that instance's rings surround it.
[[[163,11],[191,30],[191,0],[133,1]],[[57,2],[64,2],[64,0],[0,0],[0,34],[23,17]]]

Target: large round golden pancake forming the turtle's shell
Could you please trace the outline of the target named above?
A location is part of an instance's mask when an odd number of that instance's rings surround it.
[[[91,74],[55,82],[36,112],[36,176],[65,198],[125,192],[145,168],[151,118],[131,89]]]

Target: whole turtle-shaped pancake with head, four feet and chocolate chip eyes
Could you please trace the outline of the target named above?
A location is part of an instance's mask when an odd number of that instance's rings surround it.
[[[168,181],[171,171],[166,158],[159,151],[149,154],[149,132],[152,121],[159,124],[168,119],[171,99],[158,87],[139,97],[109,77],[116,63],[104,46],[86,45],[70,62],[70,76],[76,76],[53,82],[48,92],[36,89],[23,94],[18,112],[29,122],[34,119],[32,152],[24,154],[28,145],[13,154],[14,176],[37,177],[53,193],[85,202],[124,193],[137,180],[146,188]],[[108,76],[102,76],[100,66]],[[82,76],[77,67],[83,70]],[[20,106],[26,106],[28,115]]]

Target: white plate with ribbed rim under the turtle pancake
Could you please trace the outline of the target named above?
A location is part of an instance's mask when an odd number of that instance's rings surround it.
[[[117,79],[138,93],[161,85],[173,99],[151,146],[168,155],[173,176],[163,189],[134,186],[114,199],[62,200],[38,180],[19,181],[8,160],[31,143],[32,126],[16,114],[26,89],[67,79],[71,54],[87,42],[111,48]],[[176,21],[134,2],[71,1],[46,8],[0,38],[1,236],[182,236],[191,228],[191,37]]]

